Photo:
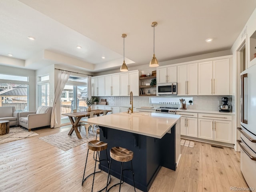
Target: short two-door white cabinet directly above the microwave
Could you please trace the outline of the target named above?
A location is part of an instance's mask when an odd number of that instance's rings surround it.
[[[177,66],[170,66],[156,69],[156,82],[176,83],[177,82]]]

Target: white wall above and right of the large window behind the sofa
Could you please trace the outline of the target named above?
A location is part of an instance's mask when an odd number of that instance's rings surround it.
[[[0,73],[28,77],[29,110],[35,111],[36,110],[36,78],[35,78],[36,72],[34,70],[1,65]]]

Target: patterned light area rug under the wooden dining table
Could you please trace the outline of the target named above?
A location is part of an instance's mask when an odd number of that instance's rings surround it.
[[[40,137],[39,139],[58,147],[64,151],[70,150],[76,146],[82,145],[84,143],[87,143],[90,140],[94,140],[96,138],[96,129],[94,129],[95,135],[90,131],[88,133],[88,138],[86,138],[86,132],[85,129],[82,129],[80,132],[80,135],[82,136],[82,139],[78,139],[76,136],[75,131],[72,133],[72,135],[68,135],[68,131]]]

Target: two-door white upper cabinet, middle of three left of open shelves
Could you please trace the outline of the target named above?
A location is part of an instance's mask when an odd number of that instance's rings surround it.
[[[120,95],[120,75],[105,76],[105,96]]]

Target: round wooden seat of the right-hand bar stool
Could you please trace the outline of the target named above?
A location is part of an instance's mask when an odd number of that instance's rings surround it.
[[[116,161],[128,162],[133,158],[133,152],[122,147],[113,147],[110,149],[110,157]]]

